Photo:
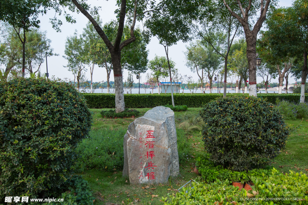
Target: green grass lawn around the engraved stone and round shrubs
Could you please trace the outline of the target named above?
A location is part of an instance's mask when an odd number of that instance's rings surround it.
[[[141,116],[150,108],[140,108]],[[167,193],[176,193],[175,189],[180,188],[190,179],[199,179],[192,172],[195,167],[195,160],[201,152],[203,152],[203,142],[201,140],[202,122],[196,120],[196,116],[201,108],[188,108],[186,112],[175,112],[176,127],[183,129],[186,134],[186,140],[191,144],[193,153],[188,156],[188,160],[184,164],[180,164],[180,175],[178,177],[169,178],[164,184],[130,184],[128,179],[122,178],[122,171],[104,171],[99,169],[87,170],[81,173],[83,178],[88,181],[92,191],[95,193],[95,205],[106,204],[107,202],[114,204],[128,204],[135,200],[136,204],[162,204],[160,199],[166,197]],[[99,114],[101,110],[107,109],[90,109],[93,112],[93,130],[99,129],[126,129],[134,120],[128,119],[107,119],[102,118]],[[303,171],[308,170],[308,120],[287,121],[292,127],[297,127],[288,139],[285,150],[275,158],[273,166],[280,171],[288,170]],[[300,124],[301,123],[301,124]],[[300,125],[299,125],[300,124]],[[299,125],[299,126],[298,126]],[[198,142],[201,142],[198,144]],[[156,197],[156,195],[158,195]]]

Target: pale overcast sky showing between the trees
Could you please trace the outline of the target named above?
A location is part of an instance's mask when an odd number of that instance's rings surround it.
[[[115,19],[114,10],[117,8],[115,6],[115,1],[109,0],[88,0],[88,3],[92,6],[101,6],[102,10],[99,11],[99,15],[103,21],[103,24]],[[289,0],[281,0],[278,2],[279,6],[291,6],[292,2]],[[67,10],[67,9],[66,9]],[[55,16],[55,12],[49,11],[46,15],[41,16],[39,19],[41,21],[40,26],[41,30],[47,31],[47,38],[51,40],[51,47],[54,49],[55,53],[58,53],[59,56],[48,57],[48,73],[49,76],[55,76],[56,78],[59,77],[61,79],[68,78],[74,80],[73,74],[64,68],[67,64],[67,61],[62,57],[64,55],[65,49],[65,41],[68,36],[74,34],[75,30],[78,31],[78,34],[82,34],[83,28],[86,26],[88,19],[81,13],[72,14],[73,17],[76,19],[75,24],[67,23],[65,18],[62,16],[58,16],[59,19],[62,20],[63,25],[60,27],[61,32],[56,32],[49,22],[49,18],[53,18]],[[137,25],[141,26],[141,23],[136,23]],[[176,63],[176,68],[179,70],[179,73],[182,75],[192,76],[195,81],[198,80],[197,73],[193,73],[185,66],[185,56],[183,51],[186,50],[185,45],[188,43],[178,42],[176,45],[169,47],[169,57]],[[155,57],[155,54],[158,56],[165,56],[164,47],[158,43],[156,37],[152,37],[152,40],[147,45],[147,49],[149,50],[148,59],[152,60]],[[42,73],[46,72],[46,63],[42,66],[41,69]],[[146,74],[141,74],[144,78]],[[123,79],[127,79],[128,71],[124,70]],[[90,80],[90,71],[86,72],[86,77]],[[95,67],[93,72],[93,82],[95,81],[106,81],[107,74],[106,69],[99,68],[98,66]],[[135,82],[137,82],[136,77],[134,76]],[[113,73],[111,71],[110,81],[114,81]],[[229,80],[228,80],[229,81]],[[262,78],[257,77],[257,82],[261,82]],[[271,82],[278,82],[278,78],[272,80]],[[289,84],[294,83],[294,78],[289,78]]]

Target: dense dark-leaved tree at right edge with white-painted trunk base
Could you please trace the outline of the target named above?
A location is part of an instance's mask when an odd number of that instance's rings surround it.
[[[265,32],[272,53],[281,58],[294,57],[295,64],[303,59],[300,102],[305,100],[305,82],[308,74],[307,4],[307,0],[295,0],[292,7],[274,10],[267,21],[268,30]]]

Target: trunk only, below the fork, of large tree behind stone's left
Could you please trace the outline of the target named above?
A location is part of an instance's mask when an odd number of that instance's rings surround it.
[[[115,112],[118,113],[123,112],[125,109],[120,49],[117,51],[113,50],[111,62],[115,79]]]

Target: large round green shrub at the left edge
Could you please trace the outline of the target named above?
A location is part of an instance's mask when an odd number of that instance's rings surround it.
[[[83,95],[63,81],[1,81],[0,200],[59,195],[91,120]]]

